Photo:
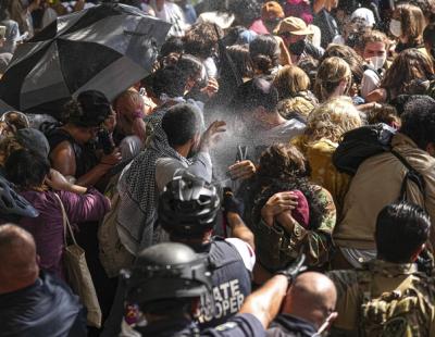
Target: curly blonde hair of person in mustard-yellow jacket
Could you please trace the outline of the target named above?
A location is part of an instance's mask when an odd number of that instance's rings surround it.
[[[326,138],[338,142],[341,136],[362,125],[360,114],[350,98],[339,97],[315,108],[308,116],[307,142]]]

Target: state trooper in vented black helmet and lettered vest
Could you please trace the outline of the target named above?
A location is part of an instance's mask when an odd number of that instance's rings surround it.
[[[159,200],[159,222],[171,241],[189,246],[210,265],[213,300],[204,302],[202,298],[200,328],[226,322],[251,292],[250,272],[256,259],[249,242],[253,236],[239,216],[241,203],[226,194],[224,208],[232,228],[229,239],[212,237],[221,200],[216,188],[203,179],[189,174],[175,177]]]

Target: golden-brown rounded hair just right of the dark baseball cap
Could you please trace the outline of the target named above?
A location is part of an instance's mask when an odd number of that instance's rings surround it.
[[[286,65],[277,72],[273,85],[278,90],[279,99],[286,99],[308,90],[310,78],[299,66]]]

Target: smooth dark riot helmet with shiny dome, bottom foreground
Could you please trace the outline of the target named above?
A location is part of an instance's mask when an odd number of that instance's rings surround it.
[[[212,290],[208,260],[182,244],[165,242],[142,250],[127,279],[127,297],[140,309],[167,312]]]

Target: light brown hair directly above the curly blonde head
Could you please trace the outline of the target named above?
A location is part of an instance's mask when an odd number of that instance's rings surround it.
[[[349,64],[336,57],[327,58],[320,64],[314,83],[314,93],[320,101],[325,101],[335,91],[341,80],[350,89],[352,72]]]

